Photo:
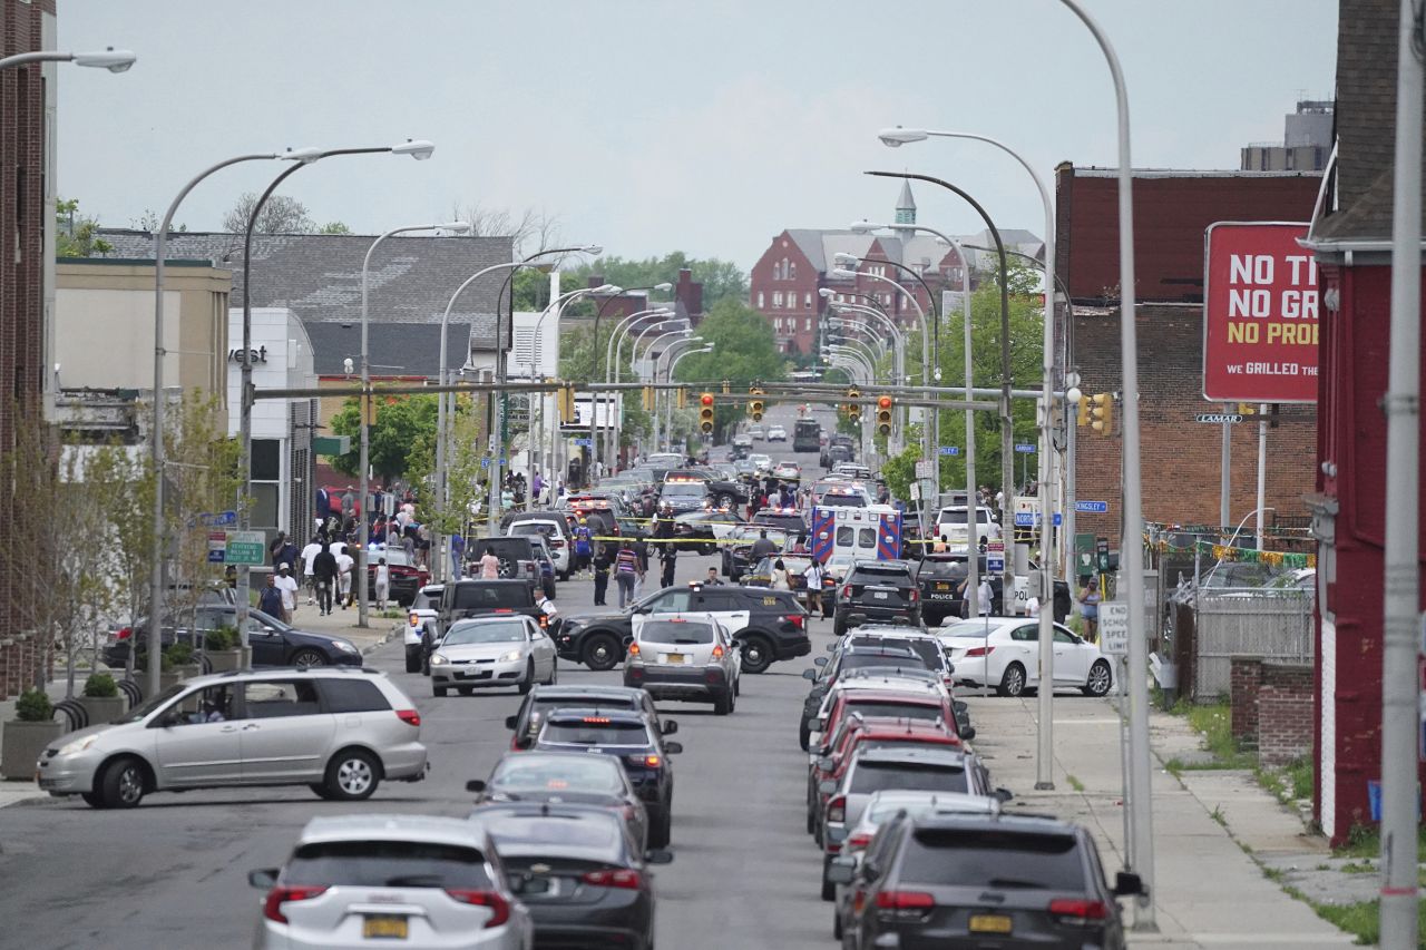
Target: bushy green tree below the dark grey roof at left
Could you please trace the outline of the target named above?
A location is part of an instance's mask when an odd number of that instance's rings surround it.
[[[378,389],[375,401],[376,422],[371,427],[368,436],[368,458],[372,471],[386,484],[402,476],[408,482],[421,481],[434,468],[436,397],[384,397]],[[332,417],[332,434],[349,435],[352,439],[349,452],[332,458],[332,468],[342,475],[356,476],[359,474],[359,418],[361,407],[355,397],[347,399],[342,411]]]

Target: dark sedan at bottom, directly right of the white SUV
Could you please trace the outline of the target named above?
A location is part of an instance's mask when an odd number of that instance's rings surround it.
[[[471,820],[485,826],[535,921],[536,946],[653,946],[652,864],[666,850],[645,852],[617,814],[588,805],[483,805]]]

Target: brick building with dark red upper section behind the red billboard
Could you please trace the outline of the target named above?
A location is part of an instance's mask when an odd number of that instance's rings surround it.
[[[1138,294],[1139,421],[1144,516],[1176,523],[1219,521],[1222,427],[1194,421],[1216,411],[1204,399],[1204,231],[1215,221],[1306,221],[1322,183],[1316,173],[1134,173]],[[1112,168],[1055,170],[1057,272],[1074,302],[1074,357],[1087,394],[1118,392],[1118,184]],[[1283,405],[1268,432],[1268,522],[1306,516],[1316,411]],[[1077,533],[1118,546],[1121,439],[1078,432],[1075,495],[1107,501],[1104,515],[1079,514]],[[1256,506],[1258,427],[1232,427],[1231,511]]]

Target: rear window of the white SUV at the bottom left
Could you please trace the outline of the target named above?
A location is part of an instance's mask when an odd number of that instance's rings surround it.
[[[448,890],[492,886],[485,856],[473,847],[381,839],[299,844],[282,869],[282,883]]]

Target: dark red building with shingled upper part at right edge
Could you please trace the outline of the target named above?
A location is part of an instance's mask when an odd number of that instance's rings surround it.
[[[1322,415],[1310,498],[1319,595],[1315,814],[1333,843],[1372,823],[1368,789],[1382,775],[1383,578],[1392,512],[1379,407],[1392,345],[1397,4],[1342,0],[1339,24],[1336,168],[1323,215],[1306,240],[1323,302]],[[1417,478],[1422,468],[1417,462]],[[1419,536],[1426,532],[1426,505],[1420,518]],[[1420,565],[1417,579],[1426,592]],[[1426,779],[1426,769],[1417,770]]]

